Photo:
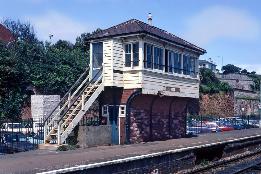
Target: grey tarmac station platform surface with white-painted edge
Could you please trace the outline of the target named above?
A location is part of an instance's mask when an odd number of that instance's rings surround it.
[[[105,163],[126,158],[140,157],[183,148],[199,148],[208,144],[220,144],[225,141],[261,137],[261,129],[252,128],[236,131],[197,134],[186,138],[153,141],[131,145],[98,146],[69,151],[33,150],[15,154],[0,155],[0,173],[32,174],[55,173],[52,171]]]

